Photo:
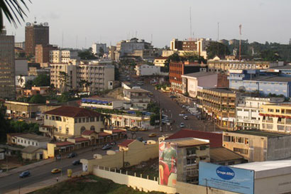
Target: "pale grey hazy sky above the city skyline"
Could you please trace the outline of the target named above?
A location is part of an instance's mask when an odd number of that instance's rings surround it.
[[[290,0],[31,0],[26,22],[47,21],[50,43],[64,47],[89,48],[94,42],[107,45],[136,35],[153,45],[170,45],[172,38],[190,37],[190,7],[194,38],[242,38],[260,43],[289,43]],[[24,26],[4,21],[16,41],[24,41]],[[87,40],[87,41],[85,41]]]

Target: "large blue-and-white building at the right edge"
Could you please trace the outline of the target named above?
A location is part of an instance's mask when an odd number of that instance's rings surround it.
[[[262,75],[258,70],[229,70],[229,88],[260,95],[291,97],[291,77]]]

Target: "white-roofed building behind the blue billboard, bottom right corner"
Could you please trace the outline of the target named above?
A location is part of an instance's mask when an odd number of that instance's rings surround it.
[[[254,194],[291,193],[291,160],[243,163],[233,167],[254,171]]]

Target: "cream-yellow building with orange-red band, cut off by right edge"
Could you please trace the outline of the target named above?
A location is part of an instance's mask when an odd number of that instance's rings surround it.
[[[260,129],[291,133],[291,104],[263,104],[260,107]]]

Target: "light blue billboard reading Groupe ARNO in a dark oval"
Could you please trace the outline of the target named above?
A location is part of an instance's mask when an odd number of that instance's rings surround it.
[[[199,185],[253,194],[254,171],[199,162]]]

